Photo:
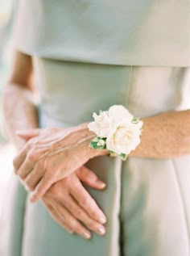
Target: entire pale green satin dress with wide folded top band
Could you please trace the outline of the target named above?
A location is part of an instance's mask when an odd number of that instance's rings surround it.
[[[171,30],[160,9],[168,13],[173,7],[181,15],[184,10],[185,27],[188,6],[175,0],[21,1],[15,44],[33,56],[39,126],[81,124],[92,120],[93,111],[118,103],[139,117],[188,109],[189,31]],[[168,15],[176,24],[175,15]],[[150,27],[147,40],[135,37]],[[176,29],[180,35],[173,42]],[[0,231],[1,256],[190,255],[190,156],[126,162],[105,156],[87,166],[107,183],[105,191],[87,188],[108,217],[105,237],[93,234],[85,241],[67,233],[41,202],[29,204],[14,177]]]

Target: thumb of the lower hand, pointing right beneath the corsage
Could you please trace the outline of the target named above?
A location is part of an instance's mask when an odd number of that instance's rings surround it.
[[[89,170],[86,166],[81,166],[76,170],[77,177],[89,187],[96,189],[104,189],[106,184],[101,181],[92,170]]]

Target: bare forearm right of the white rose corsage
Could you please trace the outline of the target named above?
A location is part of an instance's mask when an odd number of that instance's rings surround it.
[[[180,157],[190,154],[190,111],[168,111],[142,119],[141,143],[131,157]]]

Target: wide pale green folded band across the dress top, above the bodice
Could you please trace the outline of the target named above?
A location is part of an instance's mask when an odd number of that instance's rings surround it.
[[[190,66],[189,24],[188,0],[19,0],[13,42],[67,61]]]

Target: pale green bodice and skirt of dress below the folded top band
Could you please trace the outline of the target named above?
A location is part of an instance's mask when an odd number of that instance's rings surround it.
[[[33,57],[40,127],[92,120],[123,104],[144,117],[190,107],[190,68],[102,65]],[[180,124],[179,124],[180,125]],[[29,204],[17,178],[6,199],[1,256],[189,256],[190,156],[96,157],[89,166],[105,191],[86,187],[108,217],[105,237],[67,233],[41,202]],[[10,194],[11,194],[10,193]],[[2,236],[1,236],[2,237]]]

